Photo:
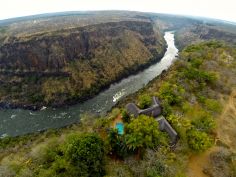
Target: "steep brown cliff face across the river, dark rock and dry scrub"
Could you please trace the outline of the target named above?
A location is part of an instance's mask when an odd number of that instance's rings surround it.
[[[0,46],[0,102],[80,101],[162,57],[151,22],[121,21],[10,37]]]

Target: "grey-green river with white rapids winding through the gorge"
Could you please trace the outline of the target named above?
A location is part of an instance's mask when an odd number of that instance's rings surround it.
[[[79,122],[80,115],[89,113],[104,114],[120,99],[134,93],[148,84],[163,70],[170,67],[178,55],[174,44],[174,33],[165,32],[167,50],[160,62],[149,68],[122,79],[92,99],[68,108],[46,108],[41,111],[23,109],[0,109],[0,136],[17,136],[50,128],[59,128]]]

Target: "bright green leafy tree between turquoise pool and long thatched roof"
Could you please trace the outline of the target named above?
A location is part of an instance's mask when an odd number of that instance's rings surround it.
[[[158,122],[148,116],[140,115],[126,125],[126,145],[128,149],[153,148],[161,141]]]

